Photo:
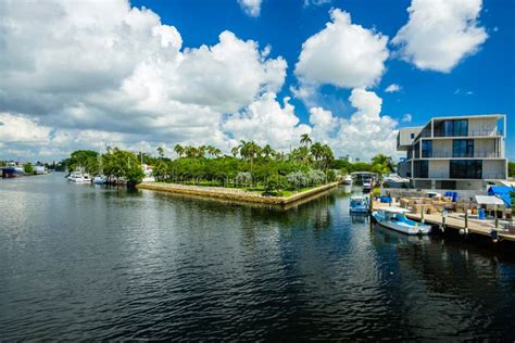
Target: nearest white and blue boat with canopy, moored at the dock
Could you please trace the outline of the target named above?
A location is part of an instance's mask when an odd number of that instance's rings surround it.
[[[407,209],[392,206],[380,208],[372,213],[372,217],[377,224],[405,234],[428,234],[431,226],[420,224],[406,218]]]

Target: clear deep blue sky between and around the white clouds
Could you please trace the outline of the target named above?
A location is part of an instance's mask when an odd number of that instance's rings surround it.
[[[297,82],[292,67],[302,43],[324,28],[331,8],[348,11],[354,23],[394,37],[409,20],[410,2],[335,0],[305,5],[303,0],[264,0],[261,15],[252,17],[231,0],[133,1],[135,5],[152,9],[164,23],[176,26],[187,47],[215,43],[225,29],[243,39],[256,40],[260,46],[271,45],[272,54],[284,56],[290,66],[282,96],[290,96],[289,85]],[[419,71],[391,58],[387,62],[388,71],[375,88],[382,97],[382,112],[398,119],[410,113],[413,120],[409,125],[413,126],[425,124],[431,116],[503,113],[508,118],[506,147],[515,148],[515,1],[483,1],[479,21],[488,31],[487,41],[451,73]],[[401,85],[402,91],[386,93],[384,90],[390,84]],[[324,91],[330,97],[324,103],[327,105],[347,100],[350,93],[349,89],[336,87],[325,87]],[[305,106],[299,100],[292,102],[306,122]],[[343,105],[336,107],[340,110],[338,114],[349,116],[353,111],[348,102]],[[515,149],[507,152],[515,160]]]

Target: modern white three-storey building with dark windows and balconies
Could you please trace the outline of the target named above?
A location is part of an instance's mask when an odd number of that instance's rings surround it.
[[[507,176],[506,116],[501,114],[435,117],[420,127],[399,130],[401,177],[415,188],[481,190]]]

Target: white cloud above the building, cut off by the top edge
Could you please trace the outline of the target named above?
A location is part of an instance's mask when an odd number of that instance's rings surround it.
[[[488,38],[477,23],[481,5],[481,0],[413,0],[410,20],[392,42],[419,69],[449,73]]]

